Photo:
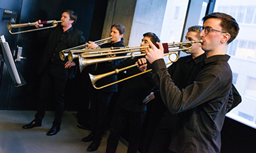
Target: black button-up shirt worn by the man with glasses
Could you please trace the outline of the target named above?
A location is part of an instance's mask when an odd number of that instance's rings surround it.
[[[193,84],[179,90],[163,59],[152,63],[153,79],[171,113],[180,113],[170,150],[174,152],[220,152],[220,131],[228,111],[232,71],[227,55],[204,59]]]

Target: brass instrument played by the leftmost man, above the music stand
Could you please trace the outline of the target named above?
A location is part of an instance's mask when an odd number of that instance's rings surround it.
[[[28,26],[32,26],[35,24],[38,24],[38,22],[33,22],[33,23],[21,23],[21,24],[11,24],[10,22],[7,22],[7,28],[9,29],[9,32],[11,34],[18,34],[18,33],[24,33],[24,32],[30,32],[30,31],[37,31],[37,30],[41,30],[41,29],[48,29],[48,28],[54,28],[58,25],[58,23],[63,22],[62,20],[56,21],[56,20],[50,20],[50,21],[42,21],[40,24],[52,24],[52,26],[49,27],[44,27],[44,28],[37,28],[37,29],[30,29],[27,31],[19,31],[19,32],[11,32],[11,29],[13,28],[21,28],[21,27],[28,27]]]

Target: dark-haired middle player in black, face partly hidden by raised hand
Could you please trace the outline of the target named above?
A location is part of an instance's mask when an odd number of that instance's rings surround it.
[[[144,33],[141,46],[148,46],[149,41],[152,41],[155,44],[155,42],[159,42],[160,40],[155,33]],[[144,53],[144,51],[141,52]],[[137,61],[140,62],[140,58],[141,57],[135,57],[133,59],[127,58],[115,67],[121,69],[123,67],[134,65]],[[151,69],[151,66],[148,64],[147,67],[132,67],[131,69],[126,70],[126,74],[127,76],[133,76],[146,69]],[[147,105],[143,104],[143,99],[150,94],[153,88],[154,81],[152,80],[151,72],[123,82],[114,109],[106,152],[110,153],[117,150],[119,138],[126,126],[128,126],[129,129],[129,131],[127,131],[129,133],[129,146],[127,152],[137,152],[139,137],[142,132],[142,125],[147,109]]]

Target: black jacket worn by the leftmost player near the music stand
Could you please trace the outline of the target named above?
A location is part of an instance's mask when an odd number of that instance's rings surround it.
[[[38,66],[38,74],[41,74],[43,70],[46,68],[48,62],[50,62],[52,54],[57,46],[57,42],[60,38],[60,33],[63,31],[62,26],[58,25],[56,28],[51,28],[48,30],[39,31],[39,37],[44,37],[47,39],[46,48],[44,49],[42,58],[40,59]],[[82,35],[82,31],[71,27],[68,32],[68,48],[72,48],[75,46],[79,46],[85,44],[84,36]],[[61,50],[60,50],[61,51]],[[65,59],[67,62],[67,59]],[[76,75],[77,65],[79,64],[77,61],[76,66],[72,66],[69,69],[69,78],[73,78]]]

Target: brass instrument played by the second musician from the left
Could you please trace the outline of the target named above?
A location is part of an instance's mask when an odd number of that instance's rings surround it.
[[[97,40],[97,41],[94,41],[94,43],[97,44],[98,46],[100,46],[100,45],[108,43],[108,40],[110,40],[110,39],[112,39],[112,37]],[[71,52],[71,51],[72,51],[72,54],[86,52],[86,50],[87,50],[86,46],[88,46],[88,44],[84,44],[84,45],[80,45],[80,46],[75,46],[73,48],[61,50],[61,52],[59,52],[60,59],[64,61],[65,58],[68,56],[68,53]],[[72,62],[72,61],[73,61],[73,59],[69,60],[69,62]]]

